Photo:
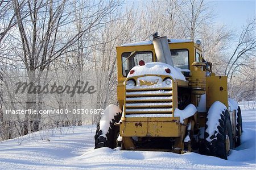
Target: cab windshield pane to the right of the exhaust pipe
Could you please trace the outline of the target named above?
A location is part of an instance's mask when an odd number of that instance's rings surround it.
[[[174,66],[181,69],[189,69],[188,49],[171,49]]]

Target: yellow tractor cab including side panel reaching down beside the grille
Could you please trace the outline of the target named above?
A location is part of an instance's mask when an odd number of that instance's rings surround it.
[[[203,61],[200,41],[194,43],[190,40],[168,39],[168,45],[171,52],[174,68],[184,74],[188,81],[191,71],[195,71],[194,62]],[[123,82],[133,67],[139,65],[139,61],[145,64],[158,62],[153,42],[150,40],[123,44],[117,47],[117,67],[118,67],[118,86],[117,97],[120,107],[123,107],[125,86]],[[185,82],[180,84],[186,85]]]

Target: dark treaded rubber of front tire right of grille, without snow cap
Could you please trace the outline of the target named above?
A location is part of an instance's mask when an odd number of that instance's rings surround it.
[[[218,122],[219,122],[219,125],[217,126],[218,131],[215,130],[214,134],[210,135],[207,132],[207,128],[212,122],[213,121],[210,121],[207,116],[204,140],[203,142],[201,142],[199,152],[200,154],[203,154],[203,155],[211,155],[211,156],[220,157],[221,159],[227,159],[230,149],[234,148],[233,138],[232,138],[233,137],[232,125],[231,125],[230,115],[228,110],[225,109],[224,111],[222,111],[222,114],[220,114],[220,117],[218,118]],[[208,141],[207,138],[211,140]],[[226,141],[229,141],[229,144],[228,143],[226,144]]]

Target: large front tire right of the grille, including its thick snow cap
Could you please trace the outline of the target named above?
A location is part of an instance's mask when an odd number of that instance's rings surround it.
[[[227,159],[229,148],[233,148],[232,125],[226,106],[216,101],[210,107],[207,115],[203,146],[200,153]],[[226,139],[229,139],[227,150]]]

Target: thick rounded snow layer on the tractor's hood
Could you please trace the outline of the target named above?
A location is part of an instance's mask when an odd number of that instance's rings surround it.
[[[171,73],[167,73],[165,71],[165,69],[167,68],[171,70]],[[135,72],[133,74],[130,74],[129,72],[129,74],[127,75],[127,78],[134,77],[134,76],[142,76],[145,74],[158,74],[158,75],[171,76],[174,79],[179,79],[183,81],[186,80],[179,69],[176,69],[166,63],[158,63],[158,62],[147,63],[145,65],[137,65],[131,70],[134,70]]]

